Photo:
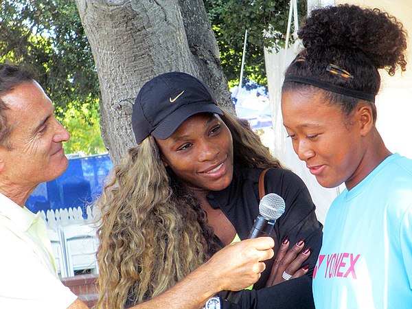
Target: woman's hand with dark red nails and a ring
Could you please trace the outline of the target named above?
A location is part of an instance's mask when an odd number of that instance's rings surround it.
[[[285,238],[282,244],[280,244],[279,251],[273,261],[271,275],[269,275],[268,280],[266,281],[266,287],[274,286],[275,284],[286,281],[286,279],[282,277],[284,272],[288,275],[292,275],[289,279],[301,277],[308,273],[309,265],[300,268],[301,264],[303,264],[310,255],[310,248],[306,248],[299,254],[299,252],[304,249],[304,246],[305,242],[301,239],[288,251],[289,238]]]

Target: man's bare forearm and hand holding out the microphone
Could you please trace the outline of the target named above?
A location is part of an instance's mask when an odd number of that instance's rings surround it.
[[[242,290],[259,279],[261,261],[273,257],[273,245],[268,237],[231,244],[163,294],[133,308],[195,309],[221,290]]]

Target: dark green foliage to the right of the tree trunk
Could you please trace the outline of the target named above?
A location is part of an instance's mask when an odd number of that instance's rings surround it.
[[[289,0],[204,0],[220,49],[220,60],[229,87],[239,83],[244,32],[248,31],[244,83],[251,80],[267,87],[264,47],[284,47]],[[299,16],[307,10],[298,1]],[[266,33],[267,35],[263,35]]]

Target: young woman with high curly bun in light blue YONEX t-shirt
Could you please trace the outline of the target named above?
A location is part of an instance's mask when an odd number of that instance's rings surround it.
[[[346,185],[325,219],[316,308],[410,308],[412,160],[392,154],[375,126],[378,69],[405,70],[406,33],[378,9],[339,5],[314,10],[299,37],[284,126],[323,187]]]

